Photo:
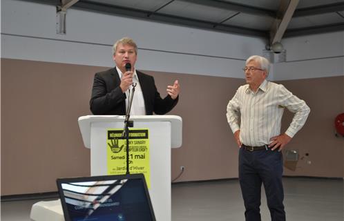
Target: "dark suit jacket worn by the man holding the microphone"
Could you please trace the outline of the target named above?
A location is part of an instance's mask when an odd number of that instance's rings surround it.
[[[167,95],[164,99],[160,97],[155,86],[154,78],[137,71],[140,81],[146,115],[164,115],[172,110],[178,103],[178,98],[172,99]],[[116,68],[111,68],[95,74],[93,81],[92,96],[90,98],[90,111],[94,115],[125,115],[126,94],[120,88],[121,79]],[[134,95],[135,96],[135,95]]]

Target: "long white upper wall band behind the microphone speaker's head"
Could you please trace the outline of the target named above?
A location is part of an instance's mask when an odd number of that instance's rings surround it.
[[[57,35],[54,6],[1,1],[1,57],[90,66],[113,66],[111,46],[124,36],[139,47],[137,68],[221,77],[242,77],[250,55],[265,40],[173,26],[70,8],[66,35]]]

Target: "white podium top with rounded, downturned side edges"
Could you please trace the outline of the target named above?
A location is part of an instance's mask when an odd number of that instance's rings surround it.
[[[86,115],[79,117],[80,132],[84,146],[90,148],[90,128],[95,122],[124,122],[122,115]],[[135,122],[171,122],[171,147],[182,146],[182,117],[176,115],[132,115],[130,120]]]

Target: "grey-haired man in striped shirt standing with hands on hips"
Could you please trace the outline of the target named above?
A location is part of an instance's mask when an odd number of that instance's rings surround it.
[[[239,181],[247,221],[260,221],[260,189],[267,195],[272,221],[285,220],[283,158],[280,152],[302,128],[309,107],[281,84],[267,81],[269,61],[251,56],[243,68],[246,85],[240,86],[227,106],[227,119],[239,151]],[[280,133],[283,111],[295,113]]]

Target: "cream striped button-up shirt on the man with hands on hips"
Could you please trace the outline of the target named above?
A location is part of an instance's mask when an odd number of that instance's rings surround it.
[[[240,130],[242,144],[262,146],[269,144],[271,137],[280,135],[285,108],[295,113],[285,131],[289,137],[294,137],[305,124],[309,107],[283,85],[264,80],[256,93],[248,84],[238,88],[227,105],[227,120],[233,133]]]

